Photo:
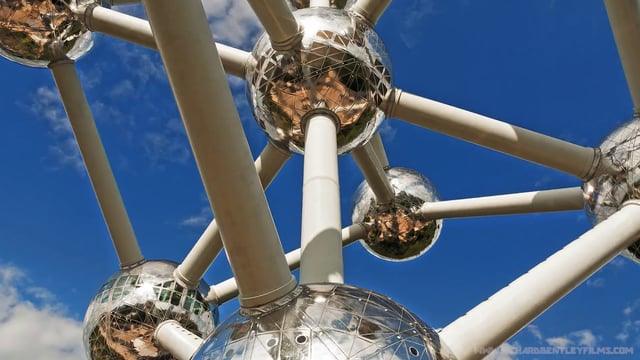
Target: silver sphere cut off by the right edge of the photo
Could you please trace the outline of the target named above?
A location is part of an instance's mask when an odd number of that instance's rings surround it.
[[[619,172],[596,176],[583,185],[585,209],[592,224],[618,211],[627,200],[640,200],[640,118],[614,130],[600,145],[602,157]],[[640,264],[640,241],[624,255]]]

